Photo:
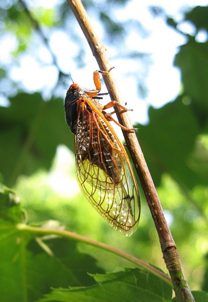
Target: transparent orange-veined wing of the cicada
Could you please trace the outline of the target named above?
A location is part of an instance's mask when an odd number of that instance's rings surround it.
[[[126,151],[99,112],[78,113],[76,173],[80,187],[110,225],[131,236],[137,229],[140,198]]]

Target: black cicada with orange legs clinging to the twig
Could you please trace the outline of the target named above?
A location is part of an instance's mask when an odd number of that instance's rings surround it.
[[[111,68],[112,69],[112,68]],[[110,70],[111,70],[110,69]],[[109,71],[110,71],[109,70]],[[94,90],[71,84],[65,98],[65,115],[74,133],[76,175],[84,195],[110,225],[126,236],[136,231],[140,217],[140,197],[125,147],[110,121],[119,124],[106,109],[120,106],[116,101],[99,103],[101,74],[93,73]]]

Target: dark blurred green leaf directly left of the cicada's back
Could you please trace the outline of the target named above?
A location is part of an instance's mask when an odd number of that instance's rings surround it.
[[[38,93],[22,93],[10,102],[10,107],[0,107],[0,167],[4,182],[13,185],[20,174],[49,169],[59,144],[73,149],[73,135],[63,100],[44,102]]]

